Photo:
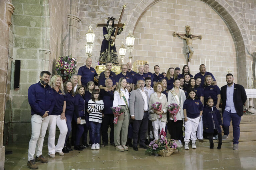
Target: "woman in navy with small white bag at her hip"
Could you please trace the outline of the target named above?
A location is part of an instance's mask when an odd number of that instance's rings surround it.
[[[89,82],[88,82],[89,83]],[[81,119],[85,119],[85,100],[83,98],[85,94],[85,86],[78,85],[75,93],[75,121],[77,122],[77,134],[74,149],[83,150],[84,147],[80,145],[80,139],[86,129],[86,124],[80,124]],[[89,123],[88,123],[89,124]]]

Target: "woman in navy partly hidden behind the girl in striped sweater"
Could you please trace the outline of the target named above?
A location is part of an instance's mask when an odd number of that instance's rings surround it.
[[[92,133],[90,130],[90,123],[89,123],[89,110],[88,110],[88,101],[91,99],[92,97],[92,92],[95,89],[95,84],[94,82],[90,81],[87,83],[87,87],[85,90],[85,95],[84,95],[84,100],[85,100],[85,121],[86,121],[86,129],[84,131],[84,141],[83,141],[83,147],[89,147],[88,143],[87,143],[87,134],[89,131],[89,144],[92,144]]]

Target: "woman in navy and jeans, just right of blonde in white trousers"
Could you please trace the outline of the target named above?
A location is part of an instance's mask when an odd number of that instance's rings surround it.
[[[68,126],[68,133],[66,135],[66,140],[64,144],[64,148],[62,151],[64,153],[69,153],[69,151],[72,151],[73,149],[67,147],[67,140],[69,138],[69,134],[71,132],[71,122],[74,115],[75,107],[75,95],[74,95],[74,87],[72,85],[71,81],[67,81],[64,83],[64,91],[66,93],[66,119],[67,119],[67,126]]]

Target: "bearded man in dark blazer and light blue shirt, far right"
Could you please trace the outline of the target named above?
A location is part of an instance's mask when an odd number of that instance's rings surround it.
[[[230,120],[233,125],[233,150],[238,150],[238,140],[240,137],[240,121],[243,115],[243,105],[247,99],[245,89],[242,85],[234,83],[232,74],[226,75],[227,85],[221,87],[223,131],[222,140],[226,140],[229,135]]]

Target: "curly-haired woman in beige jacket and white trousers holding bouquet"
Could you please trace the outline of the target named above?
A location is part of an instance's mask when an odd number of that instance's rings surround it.
[[[165,124],[167,123],[166,107],[168,106],[168,101],[166,95],[162,93],[163,84],[161,82],[157,82],[154,85],[154,93],[150,95],[149,98],[149,107],[150,107],[150,120],[152,121],[154,128],[154,137],[158,139],[158,130],[165,129]],[[152,105],[155,105],[156,102],[161,104],[162,106],[159,109],[154,109]]]

